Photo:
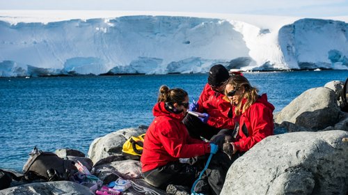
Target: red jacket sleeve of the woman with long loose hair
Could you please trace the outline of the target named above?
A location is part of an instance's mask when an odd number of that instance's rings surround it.
[[[239,139],[235,145],[240,151],[247,151],[265,137],[273,134],[274,123],[271,109],[263,104],[254,104],[246,117],[250,123],[252,134],[249,137]]]

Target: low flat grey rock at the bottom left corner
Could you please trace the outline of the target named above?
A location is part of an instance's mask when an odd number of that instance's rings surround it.
[[[34,182],[26,185],[19,185],[0,190],[3,195],[17,194],[40,194],[40,195],[63,195],[76,194],[87,195],[94,193],[88,187],[79,185],[75,182],[59,181],[59,182]]]

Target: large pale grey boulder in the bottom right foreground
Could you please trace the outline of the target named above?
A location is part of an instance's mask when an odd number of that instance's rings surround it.
[[[293,132],[257,143],[239,157],[221,194],[347,194],[348,132]]]

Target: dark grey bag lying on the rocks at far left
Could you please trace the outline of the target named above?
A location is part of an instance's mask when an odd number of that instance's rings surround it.
[[[35,147],[29,156],[23,166],[26,180],[73,180],[74,173],[77,173],[73,161],[62,159],[54,153],[42,152]]]

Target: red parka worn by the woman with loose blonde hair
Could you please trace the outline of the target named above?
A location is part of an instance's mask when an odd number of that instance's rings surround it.
[[[246,99],[242,100],[242,107]],[[256,143],[274,134],[274,106],[267,102],[267,95],[262,94],[244,113],[235,116],[236,127],[239,127],[235,146],[239,151],[247,151]]]

